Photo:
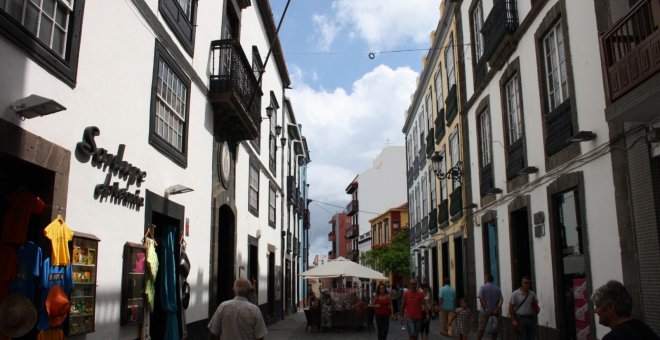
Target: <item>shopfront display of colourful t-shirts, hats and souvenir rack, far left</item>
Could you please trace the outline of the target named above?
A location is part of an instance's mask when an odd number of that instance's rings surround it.
[[[98,239],[72,231],[40,183],[12,189],[7,177],[0,185],[0,339],[93,332]],[[51,219],[49,211],[58,214]]]

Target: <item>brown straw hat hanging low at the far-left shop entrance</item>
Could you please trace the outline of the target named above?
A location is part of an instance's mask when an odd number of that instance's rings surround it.
[[[19,293],[11,293],[0,304],[0,334],[18,338],[27,334],[37,322],[32,301]]]

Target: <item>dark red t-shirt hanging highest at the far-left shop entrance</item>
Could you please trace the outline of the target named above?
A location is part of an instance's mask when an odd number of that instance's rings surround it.
[[[13,192],[7,196],[9,207],[2,221],[0,243],[23,244],[32,214],[39,215],[46,203],[39,196],[24,192]]]

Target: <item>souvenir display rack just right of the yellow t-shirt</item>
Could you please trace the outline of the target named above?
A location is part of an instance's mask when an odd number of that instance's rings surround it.
[[[73,288],[68,335],[94,332],[96,315],[96,270],[99,238],[74,232],[71,242]]]

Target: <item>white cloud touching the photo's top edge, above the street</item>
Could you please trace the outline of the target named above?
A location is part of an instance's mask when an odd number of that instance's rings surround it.
[[[435,0],[336,0],[332,8],[342,27],[366,40],[370,48],[386,49],[412,40],[428,45],[440,18]]]

